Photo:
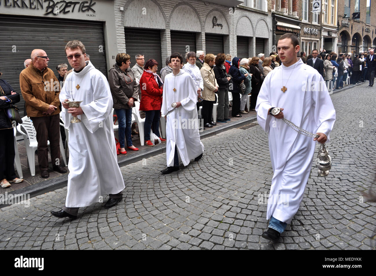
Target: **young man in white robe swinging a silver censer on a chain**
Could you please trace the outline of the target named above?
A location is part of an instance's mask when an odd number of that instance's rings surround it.
[[[311,172],[315,141],[329,140],[335,121],[335,110],[322,76],[296,56],[297,37],[291,33],[282,35],[277,50],[282,66],[265,77],[256,104],[258,123],[269,133],[274,172],[267,207],[270,221],[262,234],[271,241],[278,241],[299,209]],[[284,117],[319,137],[298,134],[282,120]]]

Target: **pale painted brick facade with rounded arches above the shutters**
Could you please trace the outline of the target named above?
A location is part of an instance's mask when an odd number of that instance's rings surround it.
[[[120,11],[120,7],[123,7],[124,11]],[[146,14],[143,14],[143,8],[146,8]],[[190,32],[201,30],[201,34],[199,33],[196,36],[197,50],[205,51],[206,30],[210,33],[228,35],[225,37],[224,49],[226,53],[229,52],[232,56],[237,54],[237,34],[266,38],[265,52],[271,52],[272,26],[270,14],[240,8],[233,11],[229,10],[229,7],[198,0],[190,0],[189,2],[177,2],[176,0],[114,0],[114,9],[119,52],[126,52],[124,26],[164,30],[161,32],[162,59],[171,53],[170,29]],[[217,23],[223,25],[222,29],[212,27],[214,15],[218,18]],[[224,18],[226,22],[223,21]],[[253,53],[255,51],[255,39],[253,38],[250,41],[252,41],[252,45],[250,45],[249,52],[255,55]]]

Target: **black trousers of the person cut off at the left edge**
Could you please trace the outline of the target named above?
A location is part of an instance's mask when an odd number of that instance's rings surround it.
[[[0,130],[0,181],[17,177],[14,172],[14,156],[13,128]]]

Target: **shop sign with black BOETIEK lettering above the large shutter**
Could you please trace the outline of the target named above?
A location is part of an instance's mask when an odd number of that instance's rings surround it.
[[[0,0],[0,6],[21,9],[42,9],[44,15],[68,14],[70,12],[96,12],[92,7],[96,4],[89,1],[56,1],[55,0]],[[95,15],[94,15],[95,16]]]

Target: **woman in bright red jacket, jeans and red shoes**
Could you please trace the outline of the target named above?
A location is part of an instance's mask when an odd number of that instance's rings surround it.
[[[145,111],[144,137],[148,146],[153,146],[150,141],[150,128],[162,142],[166,139],[161,138],[159,133],[159,119],[161,117],[163,82],[156,74],[158,63],[155,59],[149,59],[144,65],[144,73],[140,79],[141,102],[140,110]]]

